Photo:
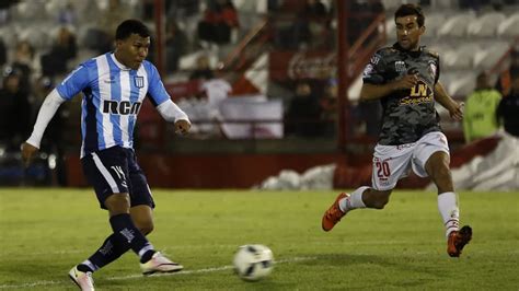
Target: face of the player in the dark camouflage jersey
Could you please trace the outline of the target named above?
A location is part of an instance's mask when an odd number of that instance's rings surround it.
[[[407,15],[397,18],[396,23],[396,39],[399,45],[407,50],[418,49],[419,37],[425,32],[425,26],[418,26],[418,16]]]

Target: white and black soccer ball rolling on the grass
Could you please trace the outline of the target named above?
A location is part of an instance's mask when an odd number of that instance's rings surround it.
[[[234,271],[245,281],[257,281],[270,273],[274,257],[264,245],[242,245],[234,255]]]

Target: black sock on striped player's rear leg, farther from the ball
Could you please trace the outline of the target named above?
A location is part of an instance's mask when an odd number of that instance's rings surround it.
[[[109,263],[116,260],[128,249],[130,249],[130,246],[126,242],[126,238],[118,233],[113,233],[104,241],[103,245],[89,258],[89,260],[95,267],[97,267],[97,269],[100,269],[108,265]],[[84,264],[81,264],[80,266],[84,266],[90,269],[90,267]],[[82,269],[80,269],[80,266],[78,266],[78,270],[83,271]]]

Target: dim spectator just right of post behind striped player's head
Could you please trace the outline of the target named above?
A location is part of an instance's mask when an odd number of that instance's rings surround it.
[[[188,39],[175,21],[168,23],[165,30],[165,60],[169,73],[178,69],[178,60],[187,53]]]

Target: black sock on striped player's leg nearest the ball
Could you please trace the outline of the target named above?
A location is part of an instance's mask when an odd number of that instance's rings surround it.
[[[117,214],[109,218],[109,224],[114,234],[120,235],[122,242],[129,246],[139,257],[151,258],[154,254],[153,246],[148,242],[146,236],[135,226],[131,217],[128,213]],[[151,255],[149,254],[151,253]],[[149,258],[145,261],[148,261]]]

